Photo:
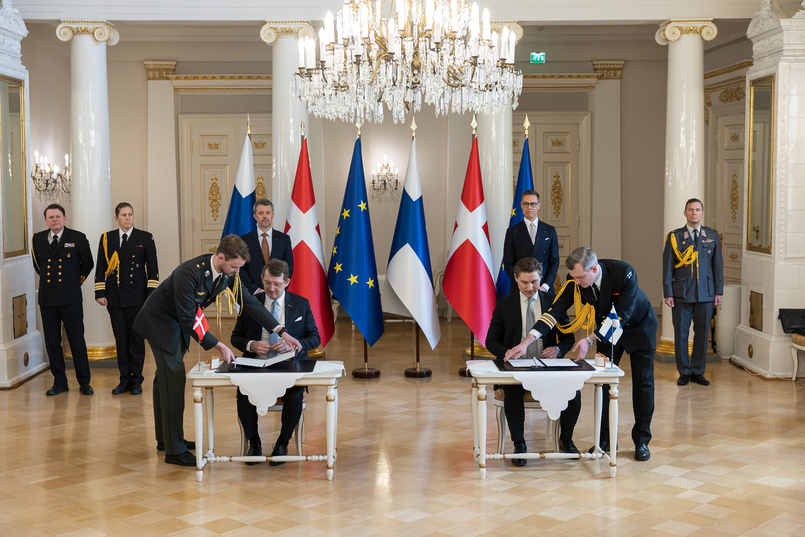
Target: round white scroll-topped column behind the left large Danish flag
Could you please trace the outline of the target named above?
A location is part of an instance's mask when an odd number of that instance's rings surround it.
[[[306,22],[266,22],[260,37],[271,49],[271,201],[274,203],[274,228],[284,229],[291,198],[296,164],[302,148],[302,121],[308,115],[302,102],[291,93],[293,75],[299,67],[298,39],[315,37]]]

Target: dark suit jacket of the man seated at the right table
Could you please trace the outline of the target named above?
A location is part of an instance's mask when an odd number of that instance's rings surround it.
[[[542,311],[547,311],[554,299],[553,291],[537,293]],[[560,323],[567,324],[568,317],[564,314]],[[489,331],[486,333],[486,349],[495,355],[496,358],[503,358],[506,351],[516,346],[523,340],[523,313],[520,306],[520,292],[512,293],[503,297],[495,304],[495,311],[492,313],[492,321],[489,323]],[[543,337],[545,347],[559,347],[561,358],[573,348],[576,342],[573,334],[563,334],[557,329],[550,330]]]

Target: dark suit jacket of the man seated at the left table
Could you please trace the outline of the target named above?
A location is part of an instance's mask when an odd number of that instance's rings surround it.
[[[263,309],[265,309],[266,294],[260,293],[254,298],[263,304]],[[307,351],[315,349],[321,343],[310,303],[306,298],[288,291],[285,291],[285,330],[302,345],[302,351],[294,356],[295,360],[307,358]],[[232,345],[241,351],[243,356],[252,358],[256,355],[248,351],[246,346],[249,341],[260,341],[262,335],[263,327],[260,323],[252,319],[250,315],[241,315],[235,323],[235,329],[232,330]]]

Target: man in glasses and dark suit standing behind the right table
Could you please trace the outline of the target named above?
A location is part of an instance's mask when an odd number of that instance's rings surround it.
[[[559,270],[559,239],[556,228],[537,218],[540,201],[535,190],[523,192],[523,221],[506,230],[503,242],[503,268],[511,280],[511,293],[517,292],[514,281],[514,265],[524,257],[533,257],[544,269],[542,291],[553,288],[553,281]]]

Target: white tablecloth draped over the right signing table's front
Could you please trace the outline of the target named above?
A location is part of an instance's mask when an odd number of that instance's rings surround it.
[[[470,373],[497,372],[498,368],[491,360],[475,360],[467,362]],[[576,396],[576,391],[584,386],[584,382],[593,376],[592,371],[506,371],[531,392],[531,396],[539,401],[548,417],[558,420],[559,415],[567,408],[567,403]]]

